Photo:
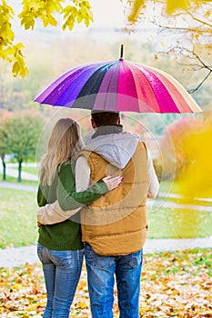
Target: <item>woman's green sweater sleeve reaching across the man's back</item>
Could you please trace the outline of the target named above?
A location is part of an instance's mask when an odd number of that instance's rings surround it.
[[[86,191],[76,193],[76,182],[72,164],[68,163],[61,166],[58,173],[56,197],[58,204],[64,211],[75,210],[78,207],[91,204],[107,192],[108,188],[106,184],[100,180]]]

